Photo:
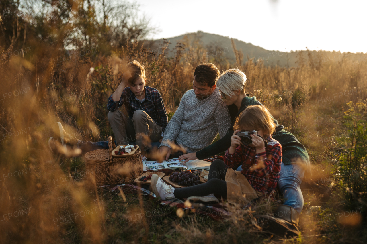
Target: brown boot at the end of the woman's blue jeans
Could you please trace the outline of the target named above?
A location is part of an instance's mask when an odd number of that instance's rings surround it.
[[[277,210],[271,215],[256,215],[257,224],[263,230],[281,237],[297,237],[299,221],[298,212],[287,205],[279,205]]]

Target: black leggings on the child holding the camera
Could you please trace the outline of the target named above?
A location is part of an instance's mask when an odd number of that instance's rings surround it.
[[[207,196],[218,194],[227,197],[227,183],[225,182],[227,168],[223,160],[217,159],[210,164],[208,182],[204,184],[175,188],[175,198],[188,198],[190,196]]]

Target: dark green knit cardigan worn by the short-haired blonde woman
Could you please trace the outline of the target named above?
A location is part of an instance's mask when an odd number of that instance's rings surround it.
[[[241,112],[251,105],[262,105],[256,97],[244,97],[241,102],[241,107],[238,110],[235,104],[228,106],[229,114],[232,119],[232,126],[228,130],[227,134],[216,141],[215,143],[209,145],[208,147],[201,149],[196,152],[196,157],[198,159],[208,158],[212,155],[219,154],[227,150],[230,147],[230,138],[233,135],[233,126],[235,125],[236,118],[241,114]],[[304,145],[302,145],[295,136],[284,130],[283,125],[279,125],[278,121],[274,119],[275,133],[272,134],[272,138],[279,141],[281,147],[283,148],[283,158],[282,162],[284,164],[291,164],[292,162],[302,162],[305,164],[306,174],[310,174],[310,159]]]

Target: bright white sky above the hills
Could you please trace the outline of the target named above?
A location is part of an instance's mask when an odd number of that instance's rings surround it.
[[[203,32],[268,50],[367,52],[366,0],[137,0],[160,32]]]

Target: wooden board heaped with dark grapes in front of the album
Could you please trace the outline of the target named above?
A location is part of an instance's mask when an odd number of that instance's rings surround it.
[[[163,180],[175,188],[181,188],[186,186],[192,186],[201,184],[201,176],[191,173],[190,170],[182,171],[180,173],[175,172],[171,175],[163,177]]]

